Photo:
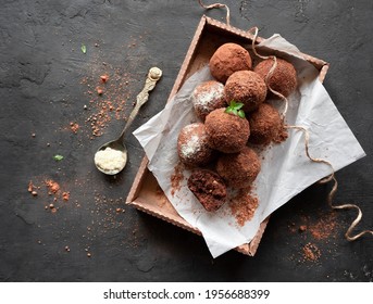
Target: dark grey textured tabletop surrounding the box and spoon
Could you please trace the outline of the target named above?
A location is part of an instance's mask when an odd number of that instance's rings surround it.
[[[95,150],[120,132],[123,121],[112,119],[102,137],[89,139],[86,119],[95,112],[89,100],[98,101],[89,89],[108,73],[116,86],[111,98],[123,97],[121,113],[128,114],[148,68],[157,65],[164,76],[132,129],[158,113],[206,13],[197,1],[0,3],[1,281],[373,280],[373,238],[345,240],[356,214],[331,215],[328,186],[314,185],[276,211],[256,257],[228,252],[213,259],[201,238],[124,204],[144,155],[133,136],[127,137],[130,159],[123,174],[113,180],[95,169]],[[372,228],[373,2],[225,3],[234,26],[259,26],[262,37],[279,33],[331,63],[324,85],[368,154],[337,173],[336,202],[359,203],[364,213],[359,228]],[[223,21],[225,12],[207,14]],[[71,122],[79,125],[77,134],[70,130]],[[54,162],[54,154],[65,159]],[[69,202],[55,202],[55,214],[45,210],[53,202],[45,179],[71,192]],[[37,198],[27,192],[29,180],[41,187]],[[316,239],[310,229],[298,232],[300,225],[323,225],[325,215],[336,225],[328,238]],[[315,262],[303,258],[308,242],[320,249]]]

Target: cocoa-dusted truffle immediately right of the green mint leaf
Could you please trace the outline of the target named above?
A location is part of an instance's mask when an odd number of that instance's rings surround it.
[[[276,140],[282,129],[282,119],[278,111],[264,102],[249,116],[249,141],[257,144],[269,144]]]

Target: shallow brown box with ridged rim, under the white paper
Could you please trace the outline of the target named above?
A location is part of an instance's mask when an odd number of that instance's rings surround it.
[[[243,46],[250,45],[253,36],[248,31],[228,26],[219,21],[212,20],[207,16],[202,16],[197,27],[194,39],[191,40],[188,52],[185,56],[184,63],[179,69],[174,87],[170,93],[169,101],[173,98],[183,86],[184,81],[204,66],[214,51],[223,43],[236,42]],[[262,41],[262,38],[257,38],[257,43]],[[304,60],[310,62],[320,71],[319,78],[323,81],[328,64],[322,60],[303,54]],[[161,110],[161,109],[160,109]],[[170,201],[164,195],[163,191],[159,187],[157,179],[149,172],[148,159],[145,156],[138,173],[135,177],[132,189],[128,193],[126,203],[133,205],[136,208],[169,221],[177,227],[189,230],[194,233],[201,235],[201,232],[191,227],[184,218],[182,218]],[[266,218],[261,225],[250,243],[241,244],[236,248],[238,252],[253,256],[257,252],[258,245],[268,225],[269,218]]]

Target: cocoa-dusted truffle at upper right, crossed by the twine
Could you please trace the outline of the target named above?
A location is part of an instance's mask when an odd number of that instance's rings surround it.
[[[276,59],[277,66],[269,77],[266,84],[275,91],[279,92],[284,97],[288,97],[297,88],[297,72],[291,63],[283,59]],[[260,62],[254,72],[258,73],[263,79],[271,71],[274,64],[273,59],[268,59]],[[274,94],[272,94],[274,97]]]

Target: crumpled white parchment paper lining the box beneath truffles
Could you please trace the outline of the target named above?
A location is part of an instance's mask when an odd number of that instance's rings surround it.
[[[286,52],[286,59],[296,66],[299,86],[289,97],[286,123],[309,130],[311,155],[327,160],[335,170],[364,156],[364,151],[319,81],[319,72],[302,59],[299,50],[279,35],[264,40],[257,50],[261,48]],[[190,94],[197,85],[208,79],[212,77],[206,66],[190,76],[165,109],[134,135],[144,147],[149,159],[148,167],[170,202],[182,217],[202,232],[212,256],[216,257],[250,242],[261,221],[307,187],[331,174],[331,168],[311,162],[304,153],[303,134],[289,130],[286,141],[271,145],[261,154],[264,161],[253,187],[259,206],[244,227],[237,225],[227,204],[214,213],[204,211],[187,188],[189,170],[183,172],[179,190],[172,189],[171,176],[178,163],[177,136],[184,126],[198,122]],[[279,101],[273,101],[273,104],[281,110]]]

